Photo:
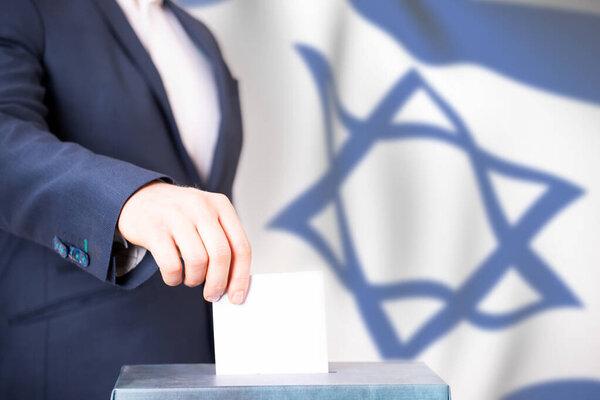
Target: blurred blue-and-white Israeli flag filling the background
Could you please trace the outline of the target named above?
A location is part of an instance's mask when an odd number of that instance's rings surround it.
[[[180,3],[240,81],[253,272],[324,271],[331,361],[600,398],[600,3]]]

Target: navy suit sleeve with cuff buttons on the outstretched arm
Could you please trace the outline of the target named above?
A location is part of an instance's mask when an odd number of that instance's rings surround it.
[[[0,0],[0,229],[53,249],[58,238],[68,249],[86,250],[87,265],[73,260],[74,268],[136,287],[156,264],[145,257],[134,276],[116,278],[112,250],[119,214],[143,185],[171,180],[49,132],[43,52],[43,25],[33,3]]]

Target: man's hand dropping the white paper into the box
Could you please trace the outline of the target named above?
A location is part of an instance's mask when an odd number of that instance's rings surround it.
[[[193,287],[206,279],[208,301],[219,300],[226,290],[234,304],[246,298],[250,243],[225,195],[153,182],[127,200],[118,229],[129,242],[150,250],[167,285],[183,280]]]

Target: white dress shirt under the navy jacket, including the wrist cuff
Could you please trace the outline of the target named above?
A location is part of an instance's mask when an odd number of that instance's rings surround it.
[[[219,94],[210,60],[192,42],[162,0],[116,0],[150,55],[169,99],[183,145],[200,177],[208,182],[221,122]],[[146,249],[117,231],[117,276],[133,269]]]

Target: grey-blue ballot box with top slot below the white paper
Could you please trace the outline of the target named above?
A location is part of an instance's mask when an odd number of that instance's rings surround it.
[[[329,373],[216,375],[214,364],[126,365],[113,400],[449,400],[450,388],[420,362],[330,363]]]

